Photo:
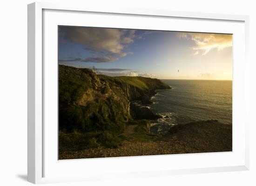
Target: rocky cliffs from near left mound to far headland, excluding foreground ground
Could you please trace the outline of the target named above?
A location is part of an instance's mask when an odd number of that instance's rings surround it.
[[[150,103],[155,90],[168,88],[158,79],[108,77],[89,69],[59,65],[59,127],[67,132],[119,133],[131,119],[130,101]]]

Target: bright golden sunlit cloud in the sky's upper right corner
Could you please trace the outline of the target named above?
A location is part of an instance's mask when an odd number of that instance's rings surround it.
[[[188,38],[195,42],[195,46],[192,47],[195,50],[193,55],[199,53],[206,55],[212,49],[221,51],[224,48],[232,47],[231,34],[180,32],[178,37]]]

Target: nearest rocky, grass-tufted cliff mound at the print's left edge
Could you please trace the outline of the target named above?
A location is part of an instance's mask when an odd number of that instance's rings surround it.
[[[66,132],[121,132],[129,101],[89,69],[59,66],[59,127]]]

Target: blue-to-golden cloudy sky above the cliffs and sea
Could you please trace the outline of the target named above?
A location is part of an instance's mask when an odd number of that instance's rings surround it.
[[[58,63],[108,76],[232,80],[232,35],[59,26]]]

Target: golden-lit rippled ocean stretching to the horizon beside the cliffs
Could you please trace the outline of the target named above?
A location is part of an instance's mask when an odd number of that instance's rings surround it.
[[[162,80],[172,87],[156,90],[150,109],[162,115],[152,130],[165,133],[176,124],[218,120],[232,124],[232,81]],[[155,131],[156,132],[156,131]]]

